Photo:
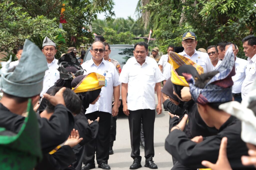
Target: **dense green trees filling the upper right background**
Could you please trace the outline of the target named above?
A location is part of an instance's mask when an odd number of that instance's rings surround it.
[[[253,0],[151,0],[140,9],[150,12],[149,27],[164,51],[171,44],[181,46],[182,35],[193,31],[197,48],[231,41],[238,45],[240,55],[244,55],[242,38],[256,33]]]

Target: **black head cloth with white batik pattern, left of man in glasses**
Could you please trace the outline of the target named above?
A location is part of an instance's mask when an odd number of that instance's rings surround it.
[[[73,80],[73,75],[75,77],[77,77],[79,75],[83,75],[84,70],[80,66],[80,63],[77,60],[73,51],[71,51],[68,54],[63,55],[58,60],[58,65],[60,66],[58,68],[58,71],[60,72],[60,79],[62,79],[62,80]],[[69,72],[67,69],[65,69],[66,67],[69,67],[69,66],[78,69],[78,71],[76,71],[74,74],[71,74],[71,72]]]

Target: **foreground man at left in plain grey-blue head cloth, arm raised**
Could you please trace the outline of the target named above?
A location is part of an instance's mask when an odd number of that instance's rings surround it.
[[[32,60],[38,63],[31,64]],[[27,110],[29,98],[33,106],[39,100],[45,71],[48,69],[47,62],[40,49],[26,40],[22,57],[14,71],[8,72],[8,63],[2,63],[2,66],[4,67],[1,69],[0,77],[0,86],[3,90],[0,101],[0,127],[17,134],[25,121],[22,114]],[[55,103],[55,116],[50,121],[39,117],[37,119],[43,153],[63,143],[73,128],[74,118],[64,104],[61,100]]]

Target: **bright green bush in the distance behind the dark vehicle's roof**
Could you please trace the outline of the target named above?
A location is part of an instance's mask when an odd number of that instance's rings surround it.
[[[112,28],[103,28],[103,31],[103,37],[109,44],[133,44],[136,42],[133,40],[135,35],[130,31],[117,33]]]

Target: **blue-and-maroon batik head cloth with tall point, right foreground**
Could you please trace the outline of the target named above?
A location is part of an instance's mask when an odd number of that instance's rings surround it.
[[[231,101],[233,85],[231,77],[236,74],[234,62],[234,54],[232,46],[230,46],[221,64],[214,70],[219,73],[212,77],[204,88],[196,87],[193,76],[183,73],[189,83],[193,100],[199,104]]]

